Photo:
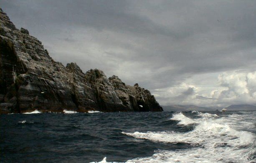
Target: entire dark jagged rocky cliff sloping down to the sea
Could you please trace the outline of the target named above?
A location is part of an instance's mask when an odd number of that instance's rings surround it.
[[[83,73],[76,63],[54,61],[28,30],[15,28],[0,11],[0,113],[75,110],[162,111],[148,90],[109,79],[101,70]]]

